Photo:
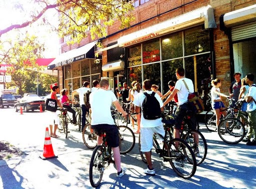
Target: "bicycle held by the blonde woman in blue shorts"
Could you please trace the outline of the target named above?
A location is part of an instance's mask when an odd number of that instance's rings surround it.
[[[225,108],[224,110],[220,111],[220,120],[223,120],[224,118],[229,118],[229,117],[235,117],[235,112],[234,112],[234,106],[233,101],[235,101],[234,99],[228,99],[226,100],[226,102],[228,101],[229,106],[227,108]],[[223,111],[227,111],[226,112],[226,116],[224,117],[224,115],[222,114]],[[207,111],[205,116],[204,116],[204,124],[205,127],[213,132],[213,131],[217,131],[217,127],[216,127],[216,115],[213,112],[213,110]]]

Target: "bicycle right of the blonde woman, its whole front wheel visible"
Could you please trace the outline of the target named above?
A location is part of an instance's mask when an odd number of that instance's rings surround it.
[[[245,136],[245,128],[242,122],[240,121],[240,118],[244,120],[244,123],[248,126],[250,126],[250,123],[247,119],[247,113],[241,111],[241,105],[243,101],[237,101],[235,105],[238,108],[238,112],[236,114],[236,117],[234,118],[225,118],[222,121],[220,121],[217,132],[218,136],[222,141],[224,141],[227,144],[237,144]]]

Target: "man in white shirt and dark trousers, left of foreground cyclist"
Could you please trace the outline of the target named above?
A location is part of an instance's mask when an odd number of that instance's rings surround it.
[[[86,115],[86,112],[88,111],[87,108],[84,105],[83,94],[90,89],[89,87],[90,87],[90,83],[88,81],[84,81],[83,82],[83,87],[80,87],[79,89],[76,89],[76,90],[72,91],[72,99],[74,99],[74,94],[75,93],[79,94],[79,104],[80,104],[81,110],[82,110],[82,120],[81,120],[82,129],[86,124],[85,115]]]

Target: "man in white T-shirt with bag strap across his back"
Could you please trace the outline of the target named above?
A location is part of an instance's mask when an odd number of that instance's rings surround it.
[[[191,79],[185,78],[184,73],[185,73],[184,68],[176,69],[177,82],[175,84],[174,90],[171,92],[168,98],[163,102],[163,106],[165,106],[169,101],[172,100],[175,94],[177,94],[178,96],[178,107],[175,112],[175,117],[174,117],[175,125],[173,127],[174,138],[178,138],[178,139],[180,138],[179,130],[181,128],[182,120],[186,115],[186,111],[190,109],[189,103],[187,101],[188,94],[194,92],[193,82],[191,81]],[[188,90],[184,82],[186,83]],[[191,126],[193,127],[190,129],[195,129],[196,121],[193,115],[190,117],[190,121],[191,121]]]

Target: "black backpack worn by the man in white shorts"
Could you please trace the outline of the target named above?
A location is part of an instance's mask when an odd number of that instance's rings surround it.
[[[161,118],[161,107],[154,96],[155,92],[152,92],[152,94],[143,92],[143,94],[146,96],[141,106],[144,119],[155,120]]]

